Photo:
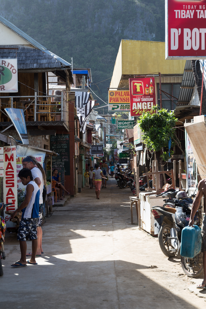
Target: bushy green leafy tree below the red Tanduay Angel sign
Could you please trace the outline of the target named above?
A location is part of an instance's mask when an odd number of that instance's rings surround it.
[[[174,112],[167,112],[165,108],[159,109],[158,106],[153,106],[152,110],[153,114],[144,112],[137,120],[144,133],[142,139],[147,148],[153,151],[162,150],[161,157],[166,162],[173,155],[171,148],[169,151],[169,141],[171,141],[171,147],[177,145],[185,155],[176,135],[177,118],[175,118]]]

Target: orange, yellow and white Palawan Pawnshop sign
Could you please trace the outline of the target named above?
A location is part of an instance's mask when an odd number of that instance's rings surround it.
[[[109,90],[108,92],[108,110],[110,112],[129,112],[129,91]]]

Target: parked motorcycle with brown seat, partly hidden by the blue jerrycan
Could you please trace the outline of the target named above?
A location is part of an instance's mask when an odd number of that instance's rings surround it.
[[[184,192],[185,193],[185,192]],[[202,252],[193,259],[180,256],[181,235],[185,226],[188,226],[191,208],[195,194],[190,197],[179,196],[183,191],[179,191],[176,199],[164,200],[163,206],[154,206],[151,212],[154,216],[154,234],[158,234],[158,241],[162,252],[168,256],[181,258],[181,266],[188,277],[198,277],[203,272]],[[186,194],[186,193],[185,193]],[[197,211],[194,217],[194,224],[201,226],[200,212]]]

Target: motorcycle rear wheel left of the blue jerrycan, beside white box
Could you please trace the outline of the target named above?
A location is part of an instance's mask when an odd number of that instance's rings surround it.
[[[164,255],[168,257],[175,256],[174,252],[171,252],[171,249],[174,249],[171,245],[170,237],[171,226],[169,224],[163,224],[158,233],[158,241],[160,248]]]

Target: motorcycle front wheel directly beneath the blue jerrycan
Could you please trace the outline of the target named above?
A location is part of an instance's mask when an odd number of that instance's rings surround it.
[[[188,277],[199,277],[203,273],[203,253],[200,252],[193,259],[181,256],[181,266]]]

